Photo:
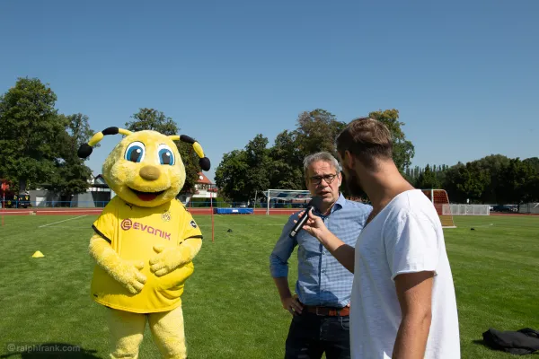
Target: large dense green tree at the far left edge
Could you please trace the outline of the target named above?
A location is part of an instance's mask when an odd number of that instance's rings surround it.
[[[37,78],[19,78],[0,96],[0,168],[23,192],[54,174],[65,132],[58,120],[56,94]]]

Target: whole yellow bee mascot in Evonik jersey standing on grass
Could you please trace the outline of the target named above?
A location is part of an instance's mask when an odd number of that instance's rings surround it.
[[[111,358],[137,358],[146,320],[164,358],[186,358],[181,293],[193,273],[202,234],[176,196],[185,167],[173,141],[192,144],[202,170],[209,160],[189,136],[109,127],[78,150],[86,158],[106,135],[125,137],[109,154],[103,177],[117,194],[93,223],[96,262],[91,293],[107,307]]]

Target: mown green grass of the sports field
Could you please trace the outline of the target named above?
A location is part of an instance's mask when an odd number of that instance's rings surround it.
[[[22,357],[8,352],[9,343],[65,343],[90,353],[79,357],[107,357],[104,309],[89,294],[93,261],[87,248],[94,218],[5,217],[0,356]],[[216,216],[215,242],[210,217],[195,219],[205,242],[183,295],[190,359],[282,358],[290,316],[280,306],[268,258],[287,217]],[[458,228],[445,232],[462,356],[512,357],[480,341],[488,328],[539,329],[539,216],[455,217],[455,223]],[[36,250],[45,258],[31,258]],[[296,252],[289,279],[293,286]],[[159,357],[147,328],[140,357]]]

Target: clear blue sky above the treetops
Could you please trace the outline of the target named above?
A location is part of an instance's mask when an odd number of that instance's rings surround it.
[[[212,162],[304,110],[399,109],[413,165],[539,155],[539,2],[0,3],[0,92],[38,77],[95,130],[163,111]],[[87,162],[101,173],[119,136]]]

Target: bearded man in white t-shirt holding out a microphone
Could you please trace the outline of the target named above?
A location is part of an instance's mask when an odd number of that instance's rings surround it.
[[[460,358],[455,287],[436,209],[402,178],[381,122],[352,121],[337,150],[350,194],[366,193],[373,211],[355,249],[311,213],[304,229],[354,273],[352,358]]]

